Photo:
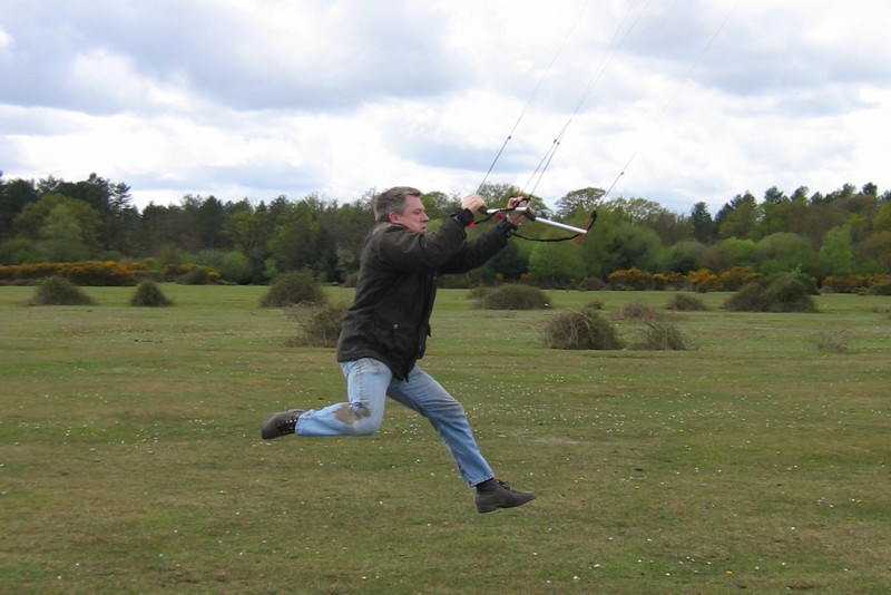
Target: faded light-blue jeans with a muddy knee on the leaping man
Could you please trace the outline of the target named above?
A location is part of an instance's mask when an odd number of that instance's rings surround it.
[[[433,377],[415,365],[408,380],[393,378],[390,368],[370,358],[341,362],[346,378],[349,402],[312,409],[297,420],[297,436],[370,436],[383,421],[386,397],[412,409],[428,420],[442,437],[469,486],[493,477],[482,458],[467,413]]]

